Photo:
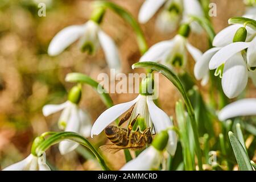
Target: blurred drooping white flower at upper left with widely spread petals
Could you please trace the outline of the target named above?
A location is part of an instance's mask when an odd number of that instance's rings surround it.
[[[90,54],[96,52],[101,46],[109,68],[115,69],[117,72],[121,71],[118,49],[114,41],[93,20],[82,25],[66,27],[57,33],[49,44],[48,54],[50,56],[59,55],[76,40],[79,40],[81,50],[88,51]]]

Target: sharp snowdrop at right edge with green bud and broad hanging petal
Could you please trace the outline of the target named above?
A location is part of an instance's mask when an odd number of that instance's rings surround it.
[[[246,28],[239,28],[234,43],[222,47],[209,62],[209,69],[216,69],[222,77],[222,89],[229,98],[237,97],[245,89],[248,77],[255,76],[256,38],[245,42],[246,35]]]

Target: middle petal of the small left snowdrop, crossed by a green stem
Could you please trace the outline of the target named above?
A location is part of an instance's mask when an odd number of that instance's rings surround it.
[[[68,121],[68,125],[65,131],[72,131],[72,132],[78,133],[79,128],[80,128],[79,113],[77,109],[73,108],[71,117]],[[75,150],[77,146],[79,146],[79,143],[68,141],[68,140],[61,141],[59,144],[60,154],[65,155],[68,152]]]

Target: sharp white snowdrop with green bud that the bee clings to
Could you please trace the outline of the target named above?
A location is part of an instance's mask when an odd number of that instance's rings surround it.
[[[168,127],[173,126],[173,123],[168,115],[154,104],[152,100],[152,90],[151,92],[142,92],[142,90],[148,90],[148,85],[151,85],[151,88],[152,85],[154,85],[154,80],[152,80],[152,78],[144,78],[141,83],[141,92],[133,101],[118,104],[105,110],[94,122],[91,136],[93,137],[93,135],[100,134],[108,125],[110,125],[110,123],[115,121],[115,119],[129,110],[133,105],[135,106],[128,122],[130,123],[130,121],[138,117],[134,125],[136,126],[136,131],[139,129],[139,131],[143,133],[144,129],[150,127],[152,132],[154,127],[155,132],[160,133],[160,131],[166,130]],[[168,134],[169,140],[167,144],[167,151],[171,155],[174,155],[177,145],[176,134],[174,131],[168,131]]]

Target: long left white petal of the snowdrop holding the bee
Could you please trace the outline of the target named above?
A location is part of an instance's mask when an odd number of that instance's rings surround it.
[[[138,100],[139,97],[136,97],[133,101],[125,102],[122,104],[114,105],[110,107],[109,109],[105,110],[98,119],[94,122],[92,131],[91,131],[91,137],[93,138],[93,135],[98,135],[107,127],[110,123],[112,123],[115,119],[117,119],[120,115],[125,113],[128,109],[130,109],[131,106],[133,106]]]

